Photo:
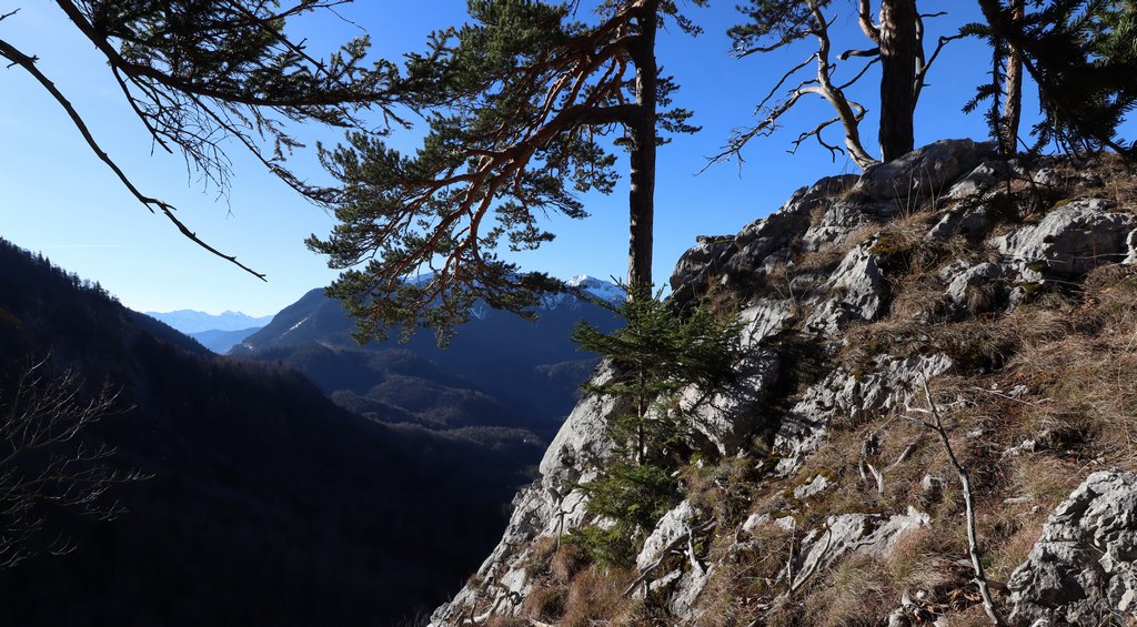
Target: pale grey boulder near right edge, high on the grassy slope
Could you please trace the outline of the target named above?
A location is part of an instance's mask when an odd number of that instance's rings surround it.
[[[1051,211],[1040,223],[994,241],[995,249],[1022,269],[1047,275],[1076,275],[1121,261],[1127,235],[1137,226],[1128,214],[1112,214],[1112,201],[1076,200]],[[1030,278],[1028,275],[1027,278]]]

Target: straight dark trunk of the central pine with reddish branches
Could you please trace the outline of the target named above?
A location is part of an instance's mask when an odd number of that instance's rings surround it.
[[[659,1],[649,0],[640,9],[640,34],[632,47],[636,64],[636,104],[631,120],[631,186],[628,204],[630,233],[628,244],[628,286],[652,285],[653,218],[655,214],[656,98],[658,67],[655,60],[655,35],[658,27]]]

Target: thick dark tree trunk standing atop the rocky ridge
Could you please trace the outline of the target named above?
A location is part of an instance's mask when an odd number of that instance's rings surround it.
[[[915,50],[915,0],[883,0],[880,3],[880,151],[885,161],[914,148]]]

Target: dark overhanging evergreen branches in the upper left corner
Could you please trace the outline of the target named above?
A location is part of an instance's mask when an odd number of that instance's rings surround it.
[[[285,166],[301,144],[289,123],[366,128],[362,109],[393,115],[396,66],[364,64],[366,36],[316,58],[290,33],[298,18],[334,11],[349,0],[57,0],[67,18],[102,56],[125,106],[150,133],[155,147],[180,151],[207,184],[226,193],[232,174],[229,142],[247,149],[273,175],[298,192],[324,201],[327,191],[305,183]],[[18,11],[0,22],[18,19]],[[27,72],[68,115],[88,145],[131,194],[160,212],[189,240],[244,270],[235,257],[211,248],[185,226],[167,202],[144,194],[102,149],[80,111],[39,57],[0,39],[0,58]],[[398,119],[397,117],[395,119]],[[380,128],[382,132],[385,127]]]

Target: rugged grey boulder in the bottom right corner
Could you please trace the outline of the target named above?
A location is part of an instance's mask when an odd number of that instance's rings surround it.
[[[1094,473],[1051,515],[1011,575],[1015,625],[1137,619],[1137,475]]]

